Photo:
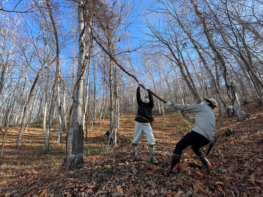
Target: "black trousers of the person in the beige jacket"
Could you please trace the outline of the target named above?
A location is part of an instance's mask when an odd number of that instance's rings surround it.
[[[195,131],[187,133],[177,144],[175,145],[174,154],[181,155],[183,150],[186,147],[192,145],[192,149],[197,156],[203,154],[200,148],[204,147],[206,144],[209,144],[209,140]]]

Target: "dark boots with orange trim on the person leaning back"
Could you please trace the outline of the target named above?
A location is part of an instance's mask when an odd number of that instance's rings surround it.
[[[200,154],[198,157],[201,159],[203,165],[205,166],[205,169],[208,172],[215,172],[212,165],[209,163],[208,159],[203,153]],[[178,166],[180,163],[180,159],[181,159],[181,155],[177,155],[175,152],[173,152],[171,165],[167,167],[165,166],[165,170],[170,171],[170,172],[178,172]]]

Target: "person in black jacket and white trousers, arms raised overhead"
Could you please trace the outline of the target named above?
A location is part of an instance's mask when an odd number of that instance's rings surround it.
[[[137,104],[138,104],[138,116],[135,118],[135,130],[134,130],[134,139],[131,141],[132,145],[132,155],[130,161],[134,161],[137,157],[137,147],[140,142],[141,134],[144,133],[148,140],[149,150],[150,150],[150,159],[154,164],[158,164],[154,157],[155,152],[155,139],[153,137],[152,127],[150,125],[150,117],[152,114],[152,109],[154,107],[153,95],[148,93],[149,96],[144,98],[144,102],[141,100],[141,82],[138,81],[138,88],[136,92]],[[148,88],[145,88],[147,90]]]

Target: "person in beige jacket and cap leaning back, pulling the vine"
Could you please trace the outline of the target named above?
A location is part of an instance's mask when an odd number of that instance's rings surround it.
[[[177,142],[174,152],[172,153],[171,165],[165,167],[166,170],[178,172],[182,151],[191,145],[194,153],[205,165],[206,170],[208,170],[208,172],[215,172],[200,148],[204,147],[214,139],[216,128],[213,109],[216,107],[217,102],[212,98],[203,98],[203,100],[204,101],[200,104],[181,105],[170,102],[166,103],[168,106],[177,109],[180,114],[182,114],[182,111],[195,112],[195,118],[192,118],[187,114],[183,115],[184,118],[194,123],[195,126],[192,128],[191,132],[187,133],[179,142]]]

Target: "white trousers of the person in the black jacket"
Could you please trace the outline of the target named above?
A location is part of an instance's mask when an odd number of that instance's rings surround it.
[[[149,145],[155,144],[155,139],[153,137],[153,131],[150,123],[139,123],[136,121],[134,130],[134,139],[131,141],[133,144],[139,144],[141,139],[141,134],[144,133],[148,140]]]

